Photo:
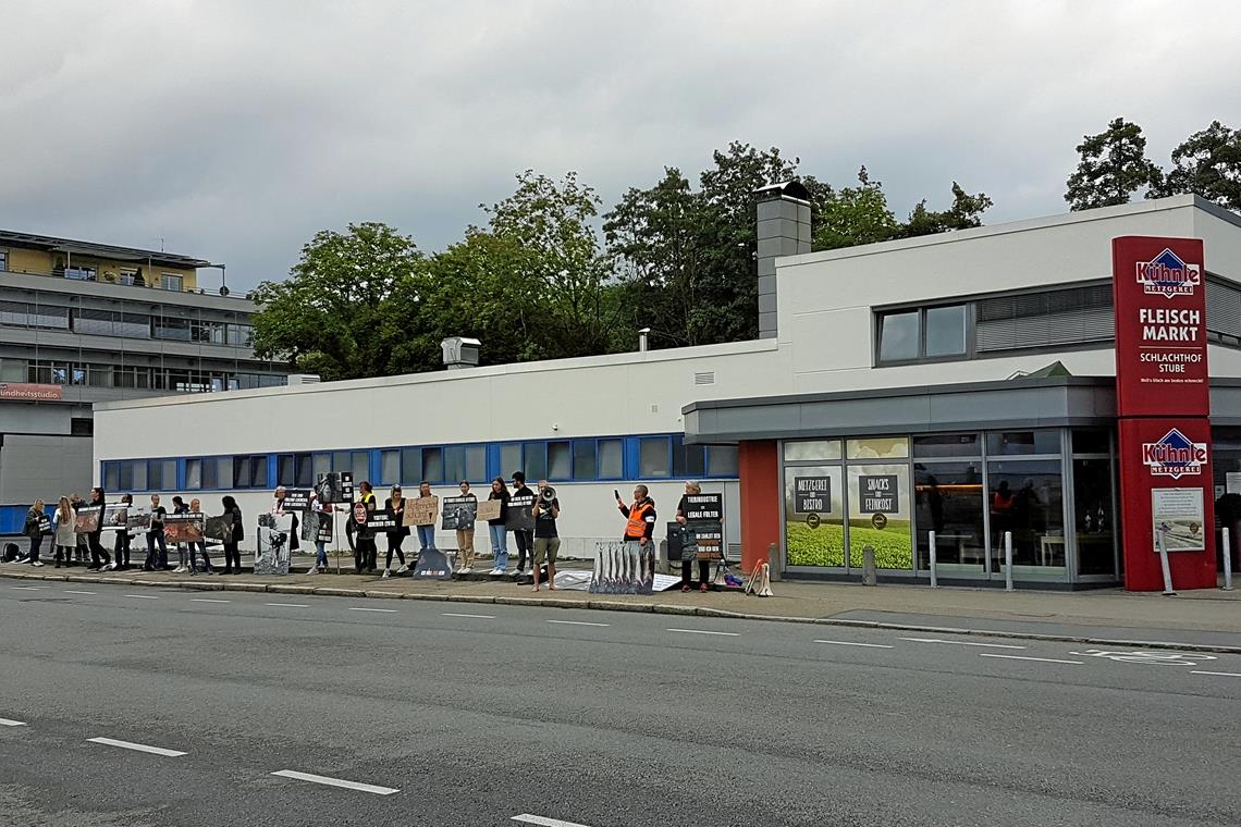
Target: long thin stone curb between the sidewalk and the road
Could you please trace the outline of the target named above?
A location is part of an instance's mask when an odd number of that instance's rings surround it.
[[[1181,643],[1176,641],[1124,640],[1114,637],[1091,637],[1085,635],[1046,635],[1041,632],[1000,631],[994,629],[959,629],[956,626],[920,626],[915,624],[889,624],[877,620],[840,620],[835,617],[788,617],[779,615],[756,615],[710,606],[686,606],[664,603],[624,603],[620,600],[566,600],[563,598],[521,598],[509,595],[475,594],[428,594],[381,591],[366,589],[318,588],[279,583],[237,583],[233,580],[207,582],[159,582],[130,580],[124,578],[91,577],[79,574],[42,574],[34,572],[0,572],[0,577],[14,580],[58,580],[67,583],[94,583],[99,585],[145,585],[164,589],[187,589],[200,591],[268,591],[272,594],[309,594],[326,598],[370,598],[401,600],[434,600],[439,603],[478,603],[503,604],[511,606],[545,606],[553,609],[589,609],[594,611],[645,611],[659,615],[692,615],[697,617],[720,617],[725,620],[761,620],[781,624],[810,624],[815,626],[844,626],[850,629],[882,629],[887,631],[931,632],[937,635],[968,635],[970,637],[1004,637],[1011,640],[1036,640],[1057,643],[1092,643],[1096,646],[1131,646],[1142,648],[1168,648],[1181,652],[1214,652],[1222,655],[1241,655],[1241,646],[1217,643]]]

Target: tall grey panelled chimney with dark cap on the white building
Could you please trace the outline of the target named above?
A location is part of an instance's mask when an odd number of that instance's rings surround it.
[[[758,338],[776,338],[776,259],[810,252],[810,192],[798,181],[769,184],[758,198]]]

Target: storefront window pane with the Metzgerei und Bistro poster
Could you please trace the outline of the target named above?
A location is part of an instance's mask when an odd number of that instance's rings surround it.
[[[786,563],[823,568],[844,567],[844,513],[840,466],[786,467]]]

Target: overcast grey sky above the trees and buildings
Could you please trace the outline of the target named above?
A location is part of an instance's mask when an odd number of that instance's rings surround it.
[[[1241,4],[6,0],[0,227],[288,274],[321,228],[426,250],[532,167],[613,205],[730,140],[903,216],[958,180],[987,223],[1064,212],[1117,115],[1152,156],[1241,126]],[[205,284],[216,285],[208,273]]]

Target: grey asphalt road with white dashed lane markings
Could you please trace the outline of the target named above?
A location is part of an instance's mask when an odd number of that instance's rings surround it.
[[[1241,823],[1241,656],[4,579],[0,621],[5,826]]]

